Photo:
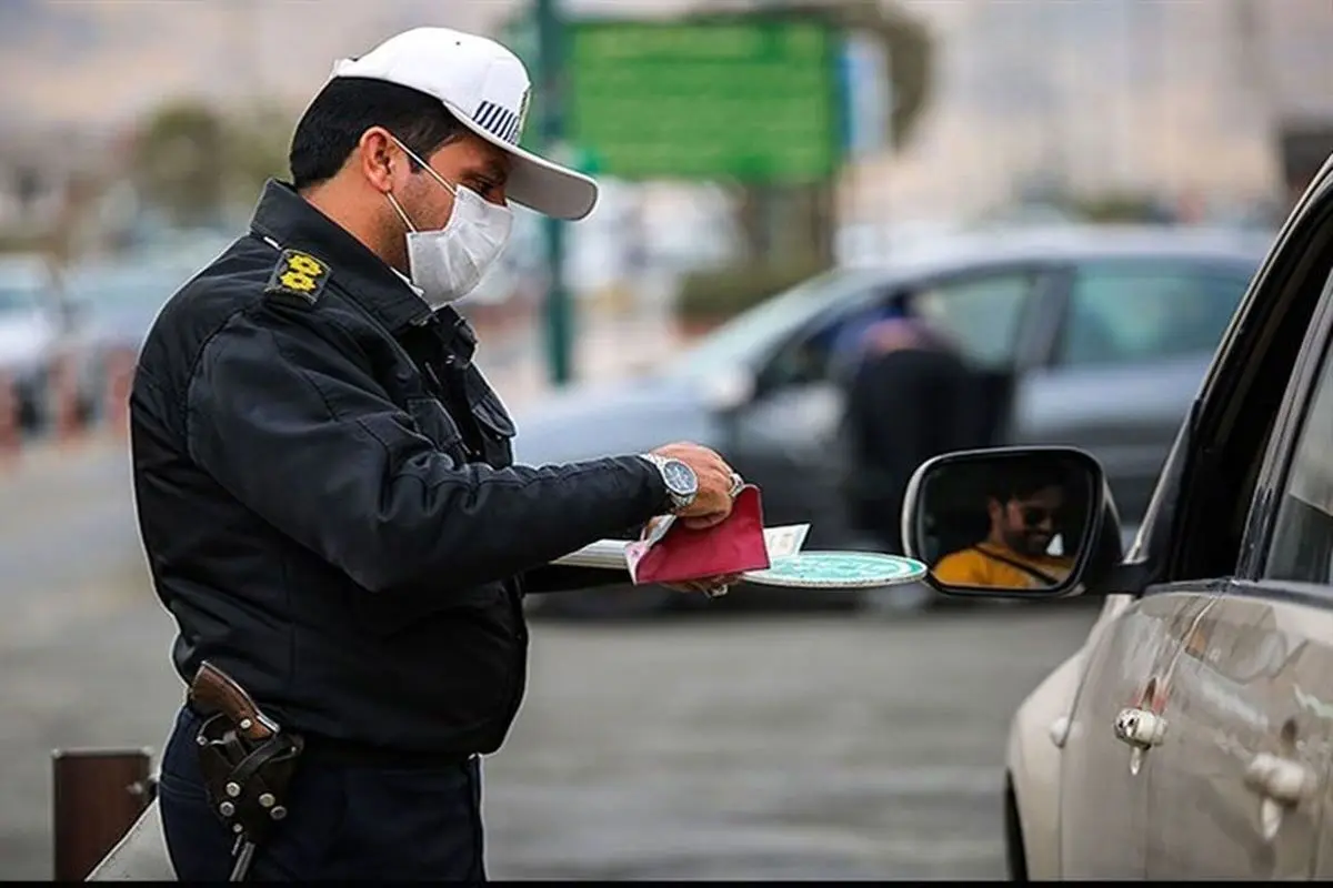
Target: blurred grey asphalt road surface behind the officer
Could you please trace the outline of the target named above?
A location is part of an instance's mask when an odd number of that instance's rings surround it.
[[[51,877],[57,747],[160,748],[172,627],[121,445],[0,477],[0,877]],[[485,766],[495,879],[998,879],[1008,719],[1093,608],[540,623]]]

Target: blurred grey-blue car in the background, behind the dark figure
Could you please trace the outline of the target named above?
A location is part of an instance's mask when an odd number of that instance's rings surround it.
[[[881,265],[806,281],[649,375],[575,386],[519,411],[516,455],[564,462],[697,441],[762,489],[766,523],[809,522],[808,549],[877,549],[842,502],[832,349],[844,325],[906,296],[977,367],[1010,381],[997,394],[1008,417],[997,442],[1094,454],[1132,527],[1269,242],[1262,232],[1168,226],[942,236]],[[904,607],[932,599],[916,587],[881,591],[905,596]],[[741,586],[720,600],[745,598]],[[529,606],[608,616],[692,600],[612,586],[533,596]]]

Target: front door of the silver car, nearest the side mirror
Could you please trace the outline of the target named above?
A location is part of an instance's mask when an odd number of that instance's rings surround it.
[[[1286,350],[1298,351],[1300,342]],[[1212,869],[1192,857],[1172,865],[1164,861],[1177,859],[1186,845],[1190,852],[1209,853],[1198,837],[1205,832],[1201,821],[1218,808],[1201,775],[1220,772],[1216,762],[1226,750],[1258,744],[1262,700],[1230,687],[1218,695],[1216,683],[1201,680],[1200,664],[1216,656],[1209,650],[1233,656],[1248,651],[1250,660],[1232,664],[1238,675],[1248,675],[1256,659],[1270,655],[1268,647],[1256,644],[1264,619],[1253,612],[1237,615],[1225,604],[1245,551],[1242,533],[1254,491],[1261,489],[1266,441],[1277,422],[1272,395],[1286,377],[1274,370],[1265,378],[1274,377],[1277,382],[1266,391],[1234,398],[1256,406],[1248,413],[1245,433],[1230,435],[1224,463],[1228,483],[1198,479],[1200,466],[1208,463],[1200,458],[1202,445],[1192,426],[1177,433],[1169,451],[1166,477],[1154,491],[1158,502],[1148,509],[1145,549],[1138,553],[1156,564],[1160,579],[1122,612],[1118,631],[1102,638],[1098,648],[1104,650],[1094,651],[1072,715],[1061,772],[1066,879],[1160,879],[1168,877],[1164,868],[1176,877],[1236,872],[1234,861]],[[1220,410],[1232,401],[1226,390],[1214,394],[1212,405]],[[1190,487],[1206,493],[1206,499],[1181,494]],[[1193,514],[1209,521],[1188,521]],[[1216,730],[1218,712],[1236,719],[1226,732]]]

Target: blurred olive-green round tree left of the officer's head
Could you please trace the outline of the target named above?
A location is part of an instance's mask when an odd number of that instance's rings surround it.
[[[227,133],[223,118],[196,100],[159,108],[139,129],[131,178],[145,204],[177,225],[208,225],[224,209]]]

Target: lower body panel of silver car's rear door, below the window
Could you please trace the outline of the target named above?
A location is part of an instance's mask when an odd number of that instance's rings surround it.
[[[1181,646],[1153,750],[1148,879],[1310,877],[1333,651],[1309,631],[1326,615],[1280,588],[1229,583]]]

